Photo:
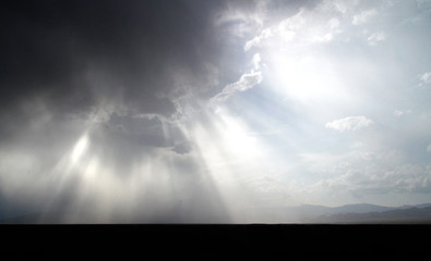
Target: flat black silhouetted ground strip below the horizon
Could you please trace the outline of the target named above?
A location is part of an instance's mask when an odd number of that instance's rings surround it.
[[[0,225],[0,254],[427,257],[430,225]],[[424,256],[422,256],[424,254]]]

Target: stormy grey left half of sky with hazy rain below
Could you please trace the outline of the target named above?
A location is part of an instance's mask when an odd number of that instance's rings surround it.
[[[213,75],[223,47],[213,16],[224,7],[189,0],[3,2],[1,212],[12,206],[17,210],[8,211],[15,214],[60,211],[73,220],[71,210],[93,213],[106,200],[107,209],[144,204],[157,221],[158,212],[183,211],[167,203],[179,195],[201,206],[196,212],[222,211],[211,181],[193,188],[200,166],[171,116],[179,96],[218,83]],[[88,145],[76,152],[85,136]],[[116,203],[111,192],[99,194],[118,188],[128,195],[122,183],[136,172],[151,176],[136,185],[142,198]],[[100,177],[86,182],[85,173]],[[178,191],[170,195],[164,186],[172,178]]]

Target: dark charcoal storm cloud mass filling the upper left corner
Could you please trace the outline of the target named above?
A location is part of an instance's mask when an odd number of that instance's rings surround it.
[[[121,97],[133,113],[170,114],[181,67],[217,53],[214,1],[14,1],[2,5],[0,102],[8,111],[41,98],[82,112]],[[100,98],[101,97],[101,98]]]

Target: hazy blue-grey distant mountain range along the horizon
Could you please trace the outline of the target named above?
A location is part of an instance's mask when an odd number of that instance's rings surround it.
[[[1,209],[0,209],[1,210]],[[44,219],[41,219],[44,216]],[[2,217],[0,213],[0,217]],[[41,222],[43,221],[43,222]],[[1,223],[59,223],[56,213],[4,216]],[[184,222],[184,221],[183,221]],[[203,221],[204,222],[204,221]],[[175,223],[175,222],[173,222]],[[187,223],[187,221],[185,221]],[[363,223],[427,223],[431,224],[431,203],[384,207],[370,203],[324,207],[302,204],[284,208],[254,208],[242,211],[239,223],[283,224],[363,224]]]

